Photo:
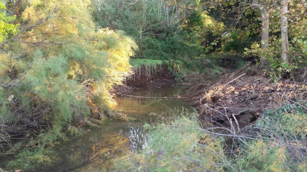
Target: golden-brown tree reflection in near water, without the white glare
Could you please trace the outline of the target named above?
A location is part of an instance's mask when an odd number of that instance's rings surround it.
[[[69,142],[69,146],[63,145],[65,148],[61,151],[62,159],[60,163],[52,167],[52,170],[72,171],[90,165],[96,160],[103,163],[129,144],[129,139],[121,134],[108,134],[105,136],[105,141],[97,140],[94,137],[88,141],[80,138]],[[50,169],[46,169],[46,171],[50,171]]]

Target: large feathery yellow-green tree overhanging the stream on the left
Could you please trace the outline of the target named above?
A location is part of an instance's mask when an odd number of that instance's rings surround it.
[[[96,28],[90,0],[28,1],[16,34],[0,43],[0,116],[81,121],[114,102],[137,48],[121,31]],[[94,111],[93,111],[94,110]]]

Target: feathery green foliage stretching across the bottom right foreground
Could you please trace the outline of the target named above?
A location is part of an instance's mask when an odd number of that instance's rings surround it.
[[[258,135],[253,135],[254,139],[243,138],[250,137],[251,133],[242,135],[242,141],[238,138],[231,140],[231,134],[227,133],[220,136],[220,130],[215,135],[214,129],[200,126],[196,112],[183,110],[171,120],[164,120],[158,125],[144,125],[150,136],[146,148],[115,159],[115,171],[306,171],[307,156],[300,153],[303,151],[300,147],[304,148],[300,137],[306,136],[303,124],[307,115],[297,108],[302,121],[299,124],[291,125],[298,122],[297,110],[292,106],[290,109],[294,111],[289,112],[289,106],[282,107],[284,110],[278,115],[280,122],[263,124],[263,121],[270,120],[260,120],[253,128],[258,129]],[[274,113],[277,115],[280,110]],[[285,110],[288,116],[284,115]],[[275,118],[273,116],[267,118]],[[289,120],[293,120],[293,123],[288,125],[286,121]],[[274,129],[270,130],[269,127]],[[229,145],[231,141],[233,143]]]

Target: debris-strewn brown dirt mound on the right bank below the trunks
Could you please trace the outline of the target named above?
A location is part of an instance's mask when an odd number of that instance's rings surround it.
[[[240,128],[259,118],[265,110],[296,103],[307,95],[303,83],[282,80],[274,83],[250,63],[223,75],[196,97],[200,118],[222,125],[236,123]]]

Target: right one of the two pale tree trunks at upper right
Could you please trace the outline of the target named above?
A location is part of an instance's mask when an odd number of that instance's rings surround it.
[[[288,13],[288,0],[281,0],[280,5],[282,6],[281,12],[281,32],[282,32],[282,60],[286,63],[290,63],[290,53],[289,53],[289,41],[288,41],[288,17],[286,14]]]

